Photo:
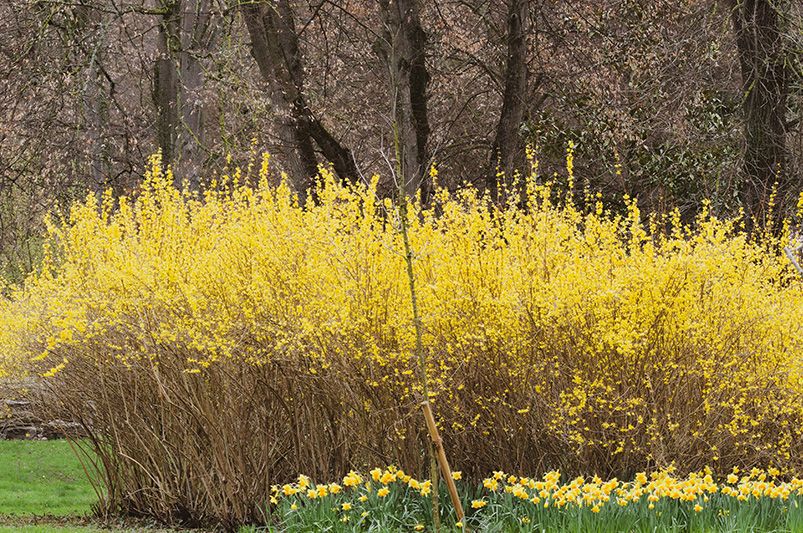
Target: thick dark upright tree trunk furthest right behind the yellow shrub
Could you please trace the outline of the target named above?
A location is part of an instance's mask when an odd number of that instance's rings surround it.
[[[745,181],[740,193],[758,221],[776,181],[782,200],[789,192],[785,119],[789,75],[776,4],[731,0],[731,8],[744,99]]]

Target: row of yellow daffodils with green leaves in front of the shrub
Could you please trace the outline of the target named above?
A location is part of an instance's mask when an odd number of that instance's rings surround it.
[[[465,523],[446,510],[442,524],[448,531],[799,531],[803,479],[779,476],[734,468],[715,480],[709,468],[684,477],[669,468],[603,481],[496,471],[481,488],[460,483]],[[268,510],[286,531],[431,531],[430,488],[392,466],[365,476],[352,471],[341,484],[300,476],[272,487]]]

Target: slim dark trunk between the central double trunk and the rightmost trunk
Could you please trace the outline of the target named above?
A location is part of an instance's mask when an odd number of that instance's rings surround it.
[[[491,149],[486,187],[494,201],[499,200],[499,174],[510,179],[516,161],[524,153],[519,128],[524,120],[527,91],[527,23],[529,0],[509,0],[507,14],[507,63],[502,109]]]

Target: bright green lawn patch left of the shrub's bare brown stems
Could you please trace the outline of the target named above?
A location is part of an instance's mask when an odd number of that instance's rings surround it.
[[[67,441],[0,441],[0,516],[85,516],[96,501]]]

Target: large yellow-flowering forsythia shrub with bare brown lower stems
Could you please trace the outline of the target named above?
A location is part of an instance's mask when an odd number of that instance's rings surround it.
[[[376,180],[321,175],[305,206],[267,157],[258,185],[197,195],[155,157],[137,197],[49,225],[41,271],[0,304],[0,353],[85,424],[105,510],[236,524],[299,472],[423,469],[397,211]],[[440,190],[410,215],[452,464],[800,472],[803,290],[778,241],[528,180],[526,207]]]

